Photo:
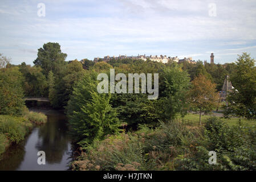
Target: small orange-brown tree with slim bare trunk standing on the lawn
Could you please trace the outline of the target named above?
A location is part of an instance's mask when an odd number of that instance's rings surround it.
[[[200,75],[192,81],[192,88],[188,92],[190,104],[200,110],[199,122],[201,125],[201,113],[204,110],[212,110],[217,106],[218,93],[214,84],[205,75]]]

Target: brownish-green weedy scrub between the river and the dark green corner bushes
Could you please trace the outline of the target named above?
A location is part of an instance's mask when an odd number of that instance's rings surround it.
[[[196,131],[198,132],[198,131]],[[170,159],[182,151],[185,139],[193,140],[194,131],[176,123],[162,123],[153,130],[140,125],[135,133],[112,135],[87,147],[77,161],[78,170],[157,170],[169,169]]]

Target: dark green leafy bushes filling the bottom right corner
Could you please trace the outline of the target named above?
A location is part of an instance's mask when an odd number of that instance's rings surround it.
[[[205,125],[205,139],[174,159],[178,170],[255,170],[255,129],[229,127],[218,118],[209,118]],[[204,142],[205,140],[205,142]],[[191,145],[193,147],[193,145]],[[209,165],[208,152],[216,151],[217,164]]]

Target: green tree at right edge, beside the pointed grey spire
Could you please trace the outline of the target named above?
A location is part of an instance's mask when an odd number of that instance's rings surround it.
[[[256,67],[255,60],[247,53],[238,55],[237,72],[230,78],[235,89],[229,92],[225,115],[248,119],[256,118]],[[238,91],[237,91],[238,90]]]

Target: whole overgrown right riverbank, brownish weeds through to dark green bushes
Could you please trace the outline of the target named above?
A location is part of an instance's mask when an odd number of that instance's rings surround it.
[[[229,126],[208,118],[204,126],[161,122],[92,143],[71,163],[72,170],[256,170],[256,127]],[[209,163],[209,151],[218,162]]]

